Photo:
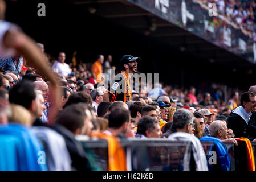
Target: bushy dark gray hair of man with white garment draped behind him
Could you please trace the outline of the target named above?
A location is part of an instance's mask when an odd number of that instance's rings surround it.
[[[192,123],[194,116],[188,109],[177,109],[173,114],[173,129],[184,129],[189,123]]]

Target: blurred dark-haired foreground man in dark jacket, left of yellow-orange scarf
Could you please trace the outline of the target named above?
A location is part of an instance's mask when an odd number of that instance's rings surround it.
[[[71,157],[71,166],[76,170],[97,170],[95,161],[91,161],[90,154],[84,151],[80,142],[75,139],[75,135],[86,131],[87,124],[90,123],[90,111],[78,105],[68,106],[56,120],[54,130],[56,130],[66,142],[68,152]],[[92,125],[91,125],[92,127]]]

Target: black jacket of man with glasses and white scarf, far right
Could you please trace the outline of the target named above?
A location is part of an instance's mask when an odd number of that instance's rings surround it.
[[[245,120],[233,111],[227,118],[227,128],[233,130],[235,138],[245,137],[249,138],[249,140],[256,138],[256,113],[252,113],[247,125]]]

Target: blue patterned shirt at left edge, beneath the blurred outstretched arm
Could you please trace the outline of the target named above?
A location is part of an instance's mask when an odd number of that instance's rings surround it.
[[[19,75],[21,72],[21,61],[17,59],[17,65],[15,64],[14,58],[0,58],[0,67],[3,68],[5,71],[10,70],[14,71],[16,75]]]

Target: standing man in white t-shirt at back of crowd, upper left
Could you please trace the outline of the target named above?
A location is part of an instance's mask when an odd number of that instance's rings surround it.
[[[60,52],[58,56],[58,61],[52,65],[52,70],[59,76],[68,76],[71,73],[70,66],[65,63],[66,55],[64,52]]]

